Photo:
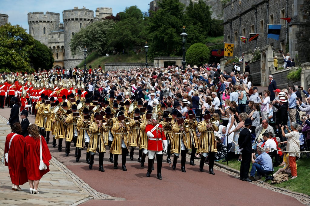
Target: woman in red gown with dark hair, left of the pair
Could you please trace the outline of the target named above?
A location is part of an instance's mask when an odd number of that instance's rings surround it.
[[[20,123],[16,122],[12,126],[12,133],[7,135],[4,152],[9,152],[8,161],[5,161],[5,165],[9,167],[10,178],[13,183],[12,190],[24,191],[20,188],[20,185],[28,182],[26,168],[23,164],[24,144],[25,138],[20,135],[22,132]],[[16,134],[16,135],[15,135]],[[9,144],[11,138],[14,136],[11,142],[10,150]]]

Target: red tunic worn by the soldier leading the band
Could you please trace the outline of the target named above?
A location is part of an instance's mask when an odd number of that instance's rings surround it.
[[[155,126],[153,124],[147,124],[145,127],[145,133],[147,133],[148,131],[151,132],[151,130]],[[148,150],[151,150],[151,151],[162,151],[163,150],[162,140],[166,140],[166,136],[164,134],[164,128],[162,127],[162,124],[158,124],[157,128],[160,128],[162,132],[158,130],[158,134],[157,134],[156,129],[154,129],[154,131],[152,132],[154,137],[152,138],[148,137]],[[158,138],[158,140],[150,140],[150,139],[156,139],[156,138]]]

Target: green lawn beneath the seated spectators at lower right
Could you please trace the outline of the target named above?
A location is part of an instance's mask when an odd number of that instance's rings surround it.
[[[236,161],[236,159],[228,161],[228,165],[226,162],[222,162],[221,160],[218,163],[229,166],[235,170],[240,171],[241,162]],[[250,171],[252,168],[252,164],[250,166]],[[277,171],[282,167],[275,167],[274,171]],[[290,191],[295,191],[299,193],[303,193],[306,195],[310,195],[310,178],[309,178],[309,169],[310,169],[310,158],[300,158],[297,162],[297,178],[292,179],[280,184],[274,184],[274,187],[281,187]],[[264,178],[263,178],[264,179]],[[268,181],[270,183],[270,181]],[[271,184],[271,183],[270,183]]]

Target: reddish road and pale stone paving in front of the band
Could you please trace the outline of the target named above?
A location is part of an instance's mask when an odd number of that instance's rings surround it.
[[[1,110],[1,115],[6,119],[9,117],[9,113],[9,108]],[[5,127],[6,120],[4,118],[0,118],[2,127]],[[34,122],[34,116],[30,115],[29,120]],[[0,137],[6,136],[5,132],[8,133],[8,127]],[[82,151],[81,161],[75,162],[73,151],[69,157],[65,157],[64,149],[63,152],[59,152],[57,146],[53,148],[51,144],[49,144],[49,148],[54,157],[51,161],[51,172],[42,178],[38,196],[10,191],[11,183],[7,167],[0,167],[2,183],[0,193],[3,193],[0,196],[1,203],[2,200],[5,200],[4,203],[7,204],[14,204],[14,202],[18,204],[16,201],[19,201],[19,204],[35,203],[40,205],[80,203],[82,205],[137,205],[142,202],[148,205],[270,205],[270,203],[273,205],[302,205],[301,202],[310,203],[310,198],[306,195],[277,191],[258,182],[243,182],[239,180],[237,174],[216,166],[215,175],[207,173],[208,165],[205,165],[205,172],[199,172],[199,162],[196,160],[197,166],[191,166],[187,161],[186,173],[180,171],[180,161],[176,170],[170,169],[168,163],[164,162],[163,179],[158,180],[156,179],[156,162],[155,171],[150,178],[147,178],[147,168],[141,168],[140,163],[137,162],[137,151],[133,161],[127,158],[128,171],[126,172],[120,169],[114,170],[113,163],[108,162],[108,153],[106,153],[104,157],[105,172],[100,172],[98,170],[98,155],[95,156],[93,169],[89,170],[85,161],[86,149]],[[121,157],[119,157],[120,164]],[[5,182],[3,181],[4,176],[6,176]],[[54,179],[51,179],[53,176],[55,176]],[[61,178],[65,180],[58,183],[52,182],[61,181]],[[29,188],[28,183],[22,188]],[[256,196],[259,198],[255,198]],[[292,196],[296,196],[297,199]],[[91,200],[92,197],[94,200]],[[253,200],[258,200],[259,203]]]

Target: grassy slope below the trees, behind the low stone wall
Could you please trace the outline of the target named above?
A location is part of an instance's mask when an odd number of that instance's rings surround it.
[[[114,62],[128,62],[128,63],[144,63],[145,62],[145,53],[139,54],[122,54],[122,55],[110,55],[110,56],[101,56],[98,53],[92,53],[86,57],[86,66],[93,65],[93,68],[100,65],[104,68],[105,63],[114,63]],[[78,65],[79,68],[84,67],[84,61]]]

